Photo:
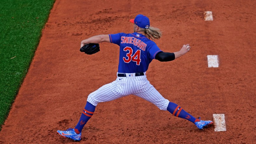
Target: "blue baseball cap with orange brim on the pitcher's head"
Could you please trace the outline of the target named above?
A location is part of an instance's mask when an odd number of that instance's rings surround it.
[[[137,26],[143,29],[148,29],[150,26],[149,18],[141,14],[137,15],[134,19],[131,19],[130,22],[135,23]]]

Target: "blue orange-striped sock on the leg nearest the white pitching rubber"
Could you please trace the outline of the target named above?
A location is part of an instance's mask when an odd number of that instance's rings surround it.
[[[199,119],[196,119],[195,117],[193,117],[191,114],[188,114],[179,105],[177,105],[173,102],[169,102],[168,107],[167,107],[167,111],[169,111],[174,116],[184,118],[186,120],[191,121],[192,123],[200,121]]]

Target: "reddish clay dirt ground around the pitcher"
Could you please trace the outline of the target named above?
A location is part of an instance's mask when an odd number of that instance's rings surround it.
[[[247,1],[56,0],[28,74],[0,132],[0,143],[72,143],[57,130],[74,127],[88,94],[116,78],[119,49],[101,43],[85,55],[81,40],[132,32],[145,14],[163,31],[163,51],[191,51],[173,62],[153,60],[147,78],[167,99],[204,120],[225,114],[227,131],[199,130],[135,96],[100,103],[81,143],[253,143],[256,139],[256,4]],[[204,11],[213,21],[204,21]],[[219,68],[208,68],[217,54]]]

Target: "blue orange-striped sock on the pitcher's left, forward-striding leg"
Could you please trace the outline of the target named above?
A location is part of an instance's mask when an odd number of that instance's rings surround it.
[[[96,106],[92,105],[90,102],[86,102],[86,105],[83,109],[83,113],[80,117],[79,122],[77,123],[76,127],[74,128],[75,132],[77,134],[80,134],[84,125],[87,123],[87,121],[92,117]]]

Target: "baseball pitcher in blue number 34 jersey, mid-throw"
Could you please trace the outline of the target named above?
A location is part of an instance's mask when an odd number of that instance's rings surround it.
[[[179,105],[165,99],[147,80],[146,71],[153,59],[161,62],[172,61],[186,54],[190,50],[189,44],[184,44],[180,51],[174,53],[163,52],[152,40],[160,39],[161,31],[150,27],[149,19],[145,15],[137,15],[130,22],[134,23],[134,33],[117,33],[97,35],[81,42],[81,52],[95,54],[99,52],[100,42],[111,42],[120,46],[119,65],[115,81],[100,87],[89,94],[80,120],[74,128],[65,131],[58,130],[58,134],[65,138],[81,140],[83,126],[94,114],[100,102],[113,101],[127,95],[135,95],[153,103],[160,110],[169,111],[174,116],[184,118],[195,124],[199,129],[212,125],[212,121],[203,121],[193,117]],[[152,40],[151,40],[152,39]]]

